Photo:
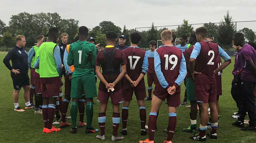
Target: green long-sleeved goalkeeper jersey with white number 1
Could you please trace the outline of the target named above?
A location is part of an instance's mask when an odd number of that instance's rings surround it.
[[[67,63],[74,65],[72,78],[94,73],[96,55],[96,47],[90,42],[77,41],[70,45]]]

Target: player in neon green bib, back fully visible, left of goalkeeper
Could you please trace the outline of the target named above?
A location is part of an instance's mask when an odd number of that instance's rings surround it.
[[[59,30],[56,27],[50,28],[47,42],[43,42],[39,47],[39,57],[34,64],[35,68],[39,67],[43,97],[43,132],[46,133],[60,131],[60,128],[52,126],[56,108],[56,98],[59,96],[61,75],[60,47],[56,44],[58,40]]]

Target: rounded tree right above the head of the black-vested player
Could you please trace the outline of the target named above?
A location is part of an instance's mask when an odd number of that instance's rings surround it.
[[[103,34],[106,34],[109,31],[114,31],[116,32],[117,36],[121,35],[121,28],[116,26],[111,21],[102,21],[99,23],[99,27],[101,28]]]

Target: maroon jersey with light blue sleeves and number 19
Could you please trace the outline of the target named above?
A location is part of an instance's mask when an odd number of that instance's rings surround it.
[[[175,46],[160,46],[154,53],[154,67],[157,83],[154,95],[168,94],[171,86],[176,87],[176,93],[181,92],[181,83],[187,74],[186,61],[183,53]]]

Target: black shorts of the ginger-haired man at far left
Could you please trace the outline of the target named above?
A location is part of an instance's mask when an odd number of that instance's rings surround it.
[[[12,82],[13,82],[13,88],[15,90],[20,90],[23,86],[29,86],[30,81],[29,81],[29,75],[12,75]]]

